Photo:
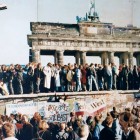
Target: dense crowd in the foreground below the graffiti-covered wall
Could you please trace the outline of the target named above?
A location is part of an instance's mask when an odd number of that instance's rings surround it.
[[[135,111],[137,110],[137,113]],[[38,112],[0,116],[0,140],[140,140],[140,108],[118,112],[113,107],[103,118],[70,113],[68,122],[47,122]]]

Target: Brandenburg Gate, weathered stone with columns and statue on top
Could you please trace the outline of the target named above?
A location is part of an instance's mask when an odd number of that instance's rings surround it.
[[[54,63],[63,65],[65,55],[75,57],[77,64],[85,64],[86,56],[99,56],[101,63],[114,62],[133,66],[133,58],[140,65],[140,28],[115,27],[99,21],[97,13],[77,17],[77,24],[31,22],[28,35],[30,62],[41,62],[41,55],[53,55]],[[96,62],[93,62],[96,63]]]

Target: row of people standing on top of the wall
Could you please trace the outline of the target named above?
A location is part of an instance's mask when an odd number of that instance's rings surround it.
[[[25,67],[0,66],[0,89],[5,94],[73,92],[98,90],[139,90],[140,66],[125,64],[77,65],[29,63]]]

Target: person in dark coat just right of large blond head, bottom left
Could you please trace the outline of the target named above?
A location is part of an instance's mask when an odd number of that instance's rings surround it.
[[[21,129],[19,140],[32,140],[33,139],[33,126],[28,122],[28,116],[22,116],[23,128]]]

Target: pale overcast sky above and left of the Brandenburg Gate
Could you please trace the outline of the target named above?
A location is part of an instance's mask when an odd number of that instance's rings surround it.
[[[29,61],[27,34],[30,22],[76,23],[76,16],[85,16],[90,0],[1,0],[7,10],[0,11],[0,64]],[[133,25],[140,27],[140,0],[135,0]],[[96,0],[102,22],[127,26],[132,22],[130,0]],[[37,16],[38,15],[38,16]],[[38,17],[38,18],[37,18]]]

